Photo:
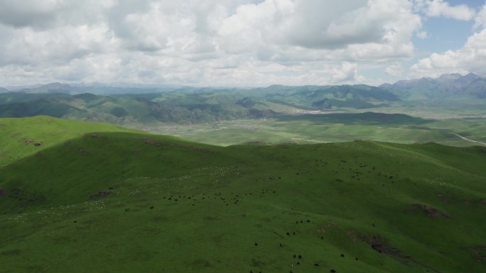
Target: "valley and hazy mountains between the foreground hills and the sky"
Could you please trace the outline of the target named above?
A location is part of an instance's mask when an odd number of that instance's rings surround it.
[[[474,74],[380,87],[105,88],[106,94],[99,87],[47,84],[0,94],[0,117],[107,122],[212,145],[357,139],[481,145],[486,142],[486,110],[482,93],[472,88],[483,86],[486,80]]]

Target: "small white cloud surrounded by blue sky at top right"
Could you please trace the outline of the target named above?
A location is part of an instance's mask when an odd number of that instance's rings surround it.
[[[470,21],[475,17],[475,10],[465,4],[450,6],[443,0],[416,0],[418,9],[429,17],[446,17],[455,20]]]

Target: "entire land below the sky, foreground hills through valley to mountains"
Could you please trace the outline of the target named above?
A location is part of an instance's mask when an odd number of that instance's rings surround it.
[[[477,94],[53,87],[0,94],[6,272],[485,269]]]

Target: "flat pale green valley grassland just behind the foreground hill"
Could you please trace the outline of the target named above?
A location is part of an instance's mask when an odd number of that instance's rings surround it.
[[[221,121],[190,126],[145,127],[152,133],[174,135],[212,145],[261,143],[315,144],[373,140],[393,143],[480,145],[453,135],[486,143],[486,121],[481,118],[414,118],[403,114],[331,113]]]

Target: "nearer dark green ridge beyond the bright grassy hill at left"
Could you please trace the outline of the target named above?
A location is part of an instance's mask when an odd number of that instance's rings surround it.
[[[259,101],[226,94],[0,94],[0,118],[47,115],[123,125],[203,123],[264,118],[276,113]]]

